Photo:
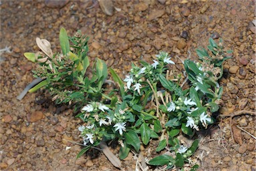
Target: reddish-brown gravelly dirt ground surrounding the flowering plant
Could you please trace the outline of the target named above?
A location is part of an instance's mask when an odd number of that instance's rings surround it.
[[[76,160],[81,147],[64,140],[81,141],[80,120],[70,106],[55,105],[43,91],[16,99],[33,80],[35,69],[23,53],[39,50],[35,37],[59,50],[61,27],[69,35],[81,29],[90,36],[90,58],[104,59],[123,78],[132,62],[152,61],[158,51],[170,53],[175,62],[176,55],[186,59],[188,51],[196,59],[197,47],[206,47],[209,37],[221,37],[234,51],[220,81],[224,92],[219,112],[227,117],[219,117],[211,134],[201,136],[195,156],[200,170],[256,170],[255,1],[122,0],[114,1],[112,16],[96,0],[62,1],[57,6],[50,1],[0,4],[0,47],[11,47],[11,53],[0,55],[0,170],[118,170],[97,150]],[[150,158],[156,152],[144,148],[142,154]],[[135,169],[130,154],[122,170]]]

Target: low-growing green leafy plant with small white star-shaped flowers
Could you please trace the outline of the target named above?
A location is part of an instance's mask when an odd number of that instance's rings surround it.
[[[68,37],[65,29],[60,30],[61,53],[53,53],[45,39],[36,41],[43,53],[25,53],[25,57],[39,63],[33,73],[43,81],[29,92],[45,88],[57,104],[76,104],[80,110],[76,117],[84,122],[78,130],[85,146],[78,158],[102,141],[116,140],[123,160],[131,150],[139,152],[141,144],[148,145],[154,139],[158,140],[155,150],[162,155],[148,164],[166,168],[189,164],[191,170],[199,167],[191,159],[199,140],[188,147],[180,144],[176,136],[193,138],[196,131],[214,122],[212,113],[219,110],[223,93],[218,80],[223,74],[223,61],[232,52],[225,51],[222,40],[217,44],[210,38],[209,51],[197,49],[199,61],[182,61],[184,76],[168,71],[167,65],[176,64],[168,53],[160,51],[153,63],[132,64],[124,79],[98,58],[87,72],[88,37],[81,31]],[[112,82],[108,80],[108,71],[118,89],[104,88],[105,83]],[[182,81],[187,80],[183,87]]]

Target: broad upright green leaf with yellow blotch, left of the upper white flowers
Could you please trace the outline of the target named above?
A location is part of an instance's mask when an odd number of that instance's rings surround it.
[[[98,88],[101,89],[102,85],[108,76],[108,67],[102,59],[97,59],[96,61],[96,75],[100,81],[98,82]]]

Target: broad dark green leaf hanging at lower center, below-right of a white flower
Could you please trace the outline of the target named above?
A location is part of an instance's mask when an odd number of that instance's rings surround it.
[[[140,138],[133,130],[128,130],[128,132],[124,133],[125,142],[134,147],[134,149],[138,152],[140,150]]]

